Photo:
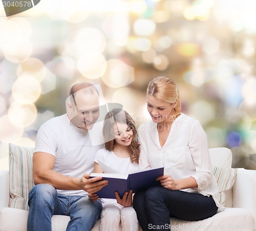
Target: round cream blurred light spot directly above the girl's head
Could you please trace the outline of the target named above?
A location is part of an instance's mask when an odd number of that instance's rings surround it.
[[[121,60],[112,59],[107,62],[106,72],[101,79],[109,87],[123,87],[134,81],[134,69]]]

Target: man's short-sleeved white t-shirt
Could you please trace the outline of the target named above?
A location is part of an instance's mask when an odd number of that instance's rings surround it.
[[[96,152],[102,145],[92,146],[88,131],[74,126],[67,114],[54,117],[40,126],[35,151],[55,157],[53,170],[66,176],[81,177],[94,169]],[[83,190],[57,190],[63,195],[87,195]]]

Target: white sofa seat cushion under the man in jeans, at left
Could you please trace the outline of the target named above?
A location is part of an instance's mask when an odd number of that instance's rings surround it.
[[[0,210],[0,230],[27,231],[27,219],[29,212],[26,210],[4,208]],[[69,216],[53,215],[52,231],[65,231],[70,221]],[[99,221],[92,231],[99,230]]]

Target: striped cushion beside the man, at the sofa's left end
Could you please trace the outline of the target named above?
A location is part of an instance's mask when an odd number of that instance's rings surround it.
[[[32,155],[34,148],[9,144],[10,201],[9,207],[28,210],[28,196],[34,186]]]

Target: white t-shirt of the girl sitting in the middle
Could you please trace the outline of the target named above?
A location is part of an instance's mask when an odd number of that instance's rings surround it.
[[[139,169],[139,165],[132,163],[130,158],[119,158],[113,151],[109,151],[105,148],[97,151],[94,162],[98,163],[98,161],[102,161],[105,165],[108,165],[109,167],[123,174],[127,174],[135,169]],[[103,204],[103,207],[108,203],[113,203],[120,209],[123,208],[116,202],[116,199],[101,198],[100,200]]]

